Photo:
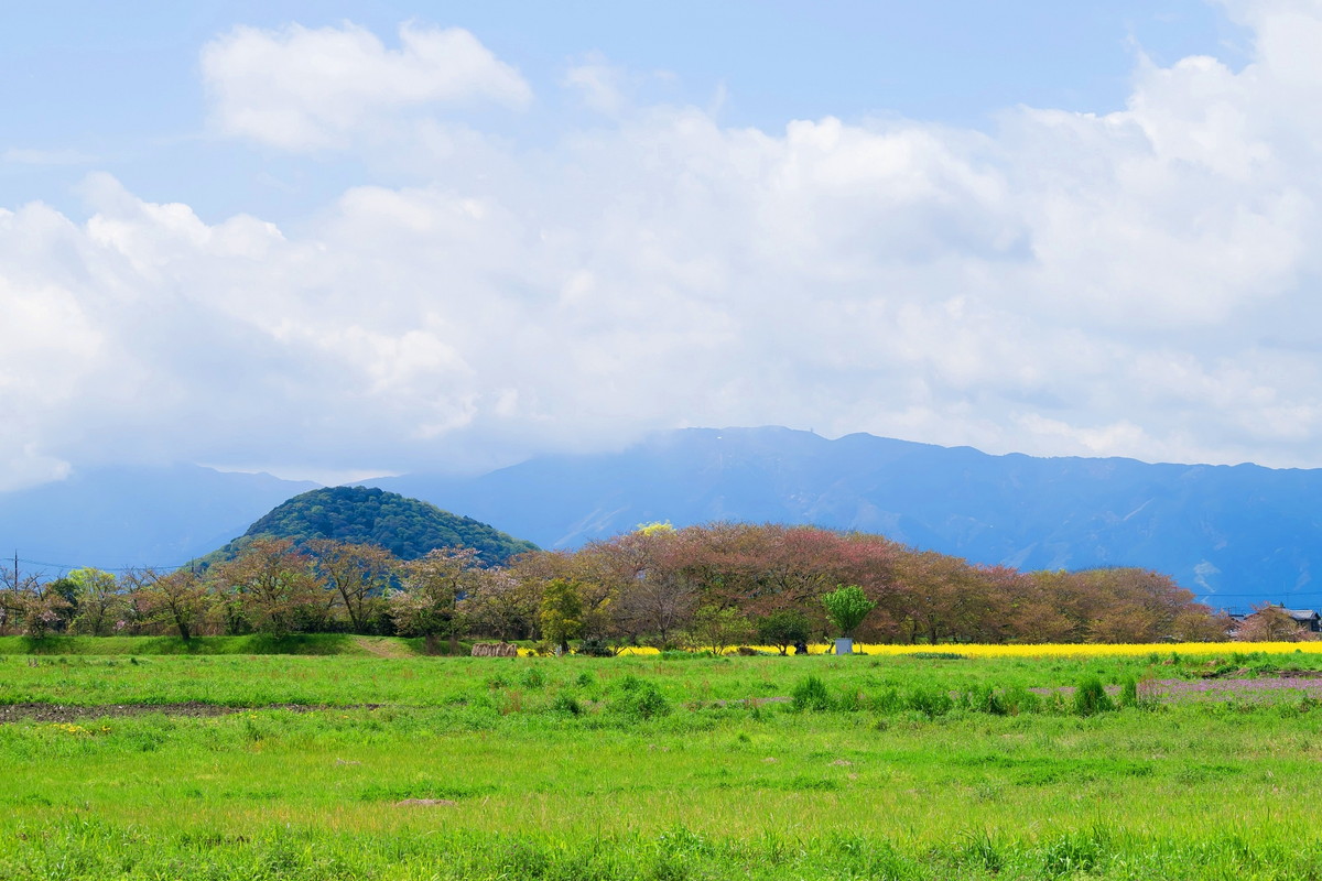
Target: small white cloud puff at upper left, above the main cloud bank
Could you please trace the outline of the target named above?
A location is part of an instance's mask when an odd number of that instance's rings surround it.
[[[202,50],[213,123],[290,151],[345,147],[356,131],[436,104],[524,107],[527,83],[461,28],[399,28],[386,49],[352,24],[237,28]]]

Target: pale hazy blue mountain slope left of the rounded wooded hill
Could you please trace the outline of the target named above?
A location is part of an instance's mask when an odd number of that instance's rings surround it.
[[[176,565],[315,486],[196,465],[75,472],[0,494],[0,556],[17,551],[57,567]]]

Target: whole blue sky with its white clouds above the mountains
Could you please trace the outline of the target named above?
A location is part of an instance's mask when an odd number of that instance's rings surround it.
[[[1322,0],[0,5],[0,490],[1322,466]]]

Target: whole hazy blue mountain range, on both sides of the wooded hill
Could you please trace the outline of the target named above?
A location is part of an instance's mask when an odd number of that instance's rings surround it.
[[[660,433],[471,478],[366,482],[547,548],[639,523],[816,523],[1026,569],[1140,565],[1210,602],[1322,605],[1322,470],[989,456],[785,428]],[[210,469],[104,469],[0,494],[0,553],[118,568],[182,563],[312,483]]]

